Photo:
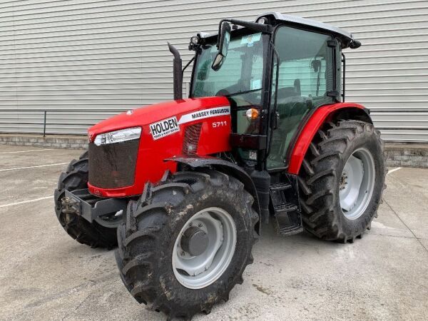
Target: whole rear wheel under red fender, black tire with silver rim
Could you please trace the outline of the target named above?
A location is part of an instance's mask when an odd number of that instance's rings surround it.
[[[299,174],[300,204],[306,230],[323,240],[352,243],[370,229],[382,203],[387,170],[383,147],[379,131],[362,121],[328,123],[318,131]],[[350,166],[349,160],[357,164],[357,170],[362,166],[362,181],[357,183],[360,186],[358,197],[352,199],[348,208],[341,190],[347,184],[344,173]]]

